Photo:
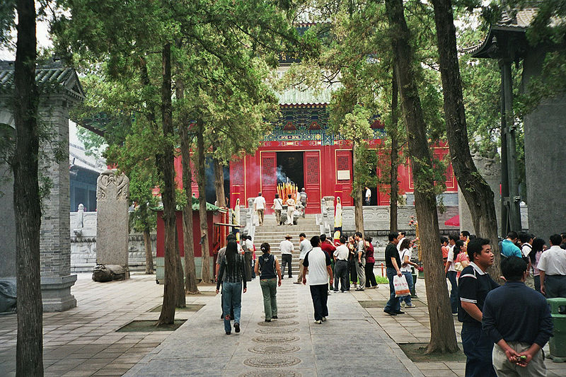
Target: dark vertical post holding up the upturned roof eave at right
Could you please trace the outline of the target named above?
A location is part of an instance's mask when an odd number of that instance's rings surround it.
[[[519,232],[521,226],[521,209],[519,202],[519,180],[517,177],[517,152],[516,135],[513,115],[513,79],[511,73],[511,61],[506,60],[503,64],[504,93],[505,93],[505,116],[507,126],[507,173],[509,176],[509,224],[513,231]]]

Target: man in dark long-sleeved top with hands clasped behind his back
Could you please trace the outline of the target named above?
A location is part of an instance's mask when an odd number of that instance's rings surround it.
[[[493,367],[499,376],[546,376],[541,349],[553,333],[550,306],[525,285],[527,264],[519,257],[501,262],[504,286],[483,304],[483,330],[495,343]]]

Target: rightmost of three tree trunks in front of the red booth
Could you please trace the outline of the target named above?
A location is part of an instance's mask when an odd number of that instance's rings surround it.
[[[198,121],[197,150],[198,150],[198,184],[199,184],[199,219],[200,219],[200,244],[202,250],[202,282],[212,283],[210,275],[210,254],[208,247],[208,224],[207,224],[207,195],[205,187],[207,178],[204,174],[204,122]]]

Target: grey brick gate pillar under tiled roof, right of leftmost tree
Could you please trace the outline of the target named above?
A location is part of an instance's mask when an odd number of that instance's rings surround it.
[[[40,229],[43,311],[67,311],[76,306],[71,295],[76,275],[71,275],[69,110],[64,95],[54,95],[42,105],[40,114],[50,126],[50,142],[40,144],[40,177],[51,184],[49,196],[42,200]]]

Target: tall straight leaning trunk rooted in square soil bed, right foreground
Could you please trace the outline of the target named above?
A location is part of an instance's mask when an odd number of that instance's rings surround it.
[[[415,209],[421,235],[420,247],[424,261],[424,274],[427,280],[431,334],[426,353],[456,352],[458,344],[439,248],[437,199],[434,195],[432,158],[415,80],[417,68],[410,45],[410,33],[403,14],[403,0],[386,0],[386,10],[391,28],[389,31],[397,84],[415,180]]]

